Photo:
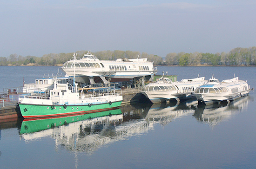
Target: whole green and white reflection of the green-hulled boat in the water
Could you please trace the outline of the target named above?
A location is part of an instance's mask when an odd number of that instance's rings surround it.
[[[84,114],[79,116],[44,119],[24,119],[20,138],[30,142],[43,137],[52,137],[55,147],[65,146],[72,152],[93,152],[100,145],[111,141],[113,128],[121,123],[120,109]]]

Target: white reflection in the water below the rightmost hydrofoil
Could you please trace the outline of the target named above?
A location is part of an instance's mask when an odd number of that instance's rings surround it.
[[[251,99],[252,97],[246,96],[226,105],[200,105],[195,109],[193,116],[198,122],[209,124],[211,128],[214,128],[223,120],[227,120],[234,114],[246,109]]]

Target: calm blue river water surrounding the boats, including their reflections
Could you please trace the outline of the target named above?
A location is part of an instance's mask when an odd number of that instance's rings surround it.
[[[0,90],[34,83],[59,67],[0,66]],[[177,79],[233,78],[256,87],[256,67],[166,67]],[[256,168],[256,94],[227,106],[132,104],[96,118],[0,123],[0,168]],[[92,115],[92,117],[94,117]],[[63,123],[64,121],[65,123]]]

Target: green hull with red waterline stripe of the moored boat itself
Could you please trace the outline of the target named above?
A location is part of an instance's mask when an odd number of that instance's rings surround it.
[[[121,101],[105,104],[91,105],[35,105],[19,104],[21,115],[24,118],[41,118],[54,116],[67,116],[95,113],[99,111],[112,110],[121,105]]]

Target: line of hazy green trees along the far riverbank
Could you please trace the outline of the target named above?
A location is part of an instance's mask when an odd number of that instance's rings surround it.
[[[82,58],[88,51],[76,51],[77,57]],[[117,58],[148,58],[154,65],[256,65],[256,46],[249,48],[237,47],[225,53],[168,53],[163,59],[161,56],[148,54],[146,52],[133,51],[99,51],[91,52],[100,60],[115,60]],[[42,57],[11,54],[9,57],[0,57],[0,65],[43,65],[61,66],[68,60],[73,59],[72,53],[50,53]]]

